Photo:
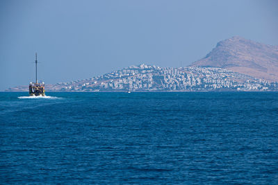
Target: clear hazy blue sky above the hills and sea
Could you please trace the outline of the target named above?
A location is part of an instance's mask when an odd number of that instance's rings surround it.
[[[179,67],[240,35],[278,45],[278,1],[0,1],[0,91],[140,63]]]

